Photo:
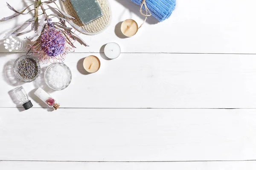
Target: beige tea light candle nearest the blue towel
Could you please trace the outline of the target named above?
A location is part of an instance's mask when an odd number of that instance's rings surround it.
[[[134,36],[138,31],[138,24],[132,19],[125,20],[122,22],[121,31],[126,37]]]

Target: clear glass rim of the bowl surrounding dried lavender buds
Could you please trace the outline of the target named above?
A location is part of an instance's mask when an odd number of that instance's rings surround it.
[[[29,59],[32,59],[33,61],[35,61],[37,67],[38,67],[38,71],[36,73],[36,76],[33,78],[33,79],[24,79],[23,77],[20,76],[20,74],[18,73],[18,63],[20,62],[20,60],[22,59],[26,59],[26,58],[29,58]],[[38,62],[38,60],[31,56],[31,55],[23,55],[23,56],[20,56],[19,58],[16,59],[16,61],[14,62],[14,65],[13,65],[13,71],[14,71],[14,74],[15,74],[15,77],[20,80],[21,82],[32,82],[34,81],[35,79],[38,78],[40,72],[41,72],[41,66],[40,66],[40,63]]]

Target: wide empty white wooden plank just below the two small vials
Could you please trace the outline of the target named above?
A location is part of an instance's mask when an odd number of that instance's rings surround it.
[[[255,109],[0,108],[0,160],[251,160],[255,120]]]

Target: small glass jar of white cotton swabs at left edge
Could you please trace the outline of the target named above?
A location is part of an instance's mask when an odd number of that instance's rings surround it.
[[[9,52],[25,52],[27,42],[15,36],[9,36],[3,41],[4,48]]]

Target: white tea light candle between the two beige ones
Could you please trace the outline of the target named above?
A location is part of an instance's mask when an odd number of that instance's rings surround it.
[[[104,54],[109,59],[115,59],[121,54],[121,48],[116,42],[109,42],[104,48]]]

